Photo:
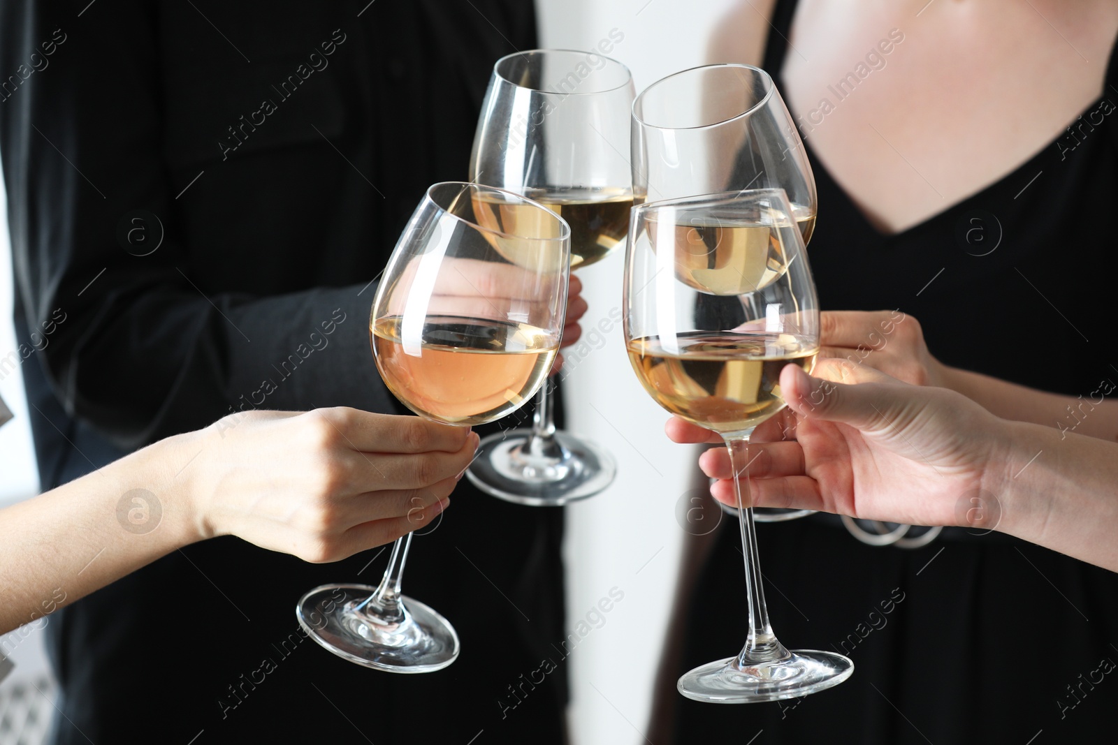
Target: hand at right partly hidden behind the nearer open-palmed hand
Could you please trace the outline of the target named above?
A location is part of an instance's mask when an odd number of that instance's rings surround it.
[[[900,311],[824,311],[823,357],[860,363],[913,385],[947,386],[947,366],[931,356],[920,322]]]

